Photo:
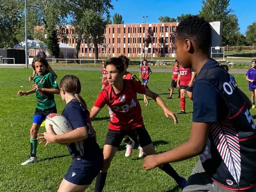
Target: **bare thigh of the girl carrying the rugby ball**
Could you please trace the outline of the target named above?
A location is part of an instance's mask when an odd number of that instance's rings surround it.
[[[84,192],[90,185],[76,185],[65,179],[60,183],[58,192]]]

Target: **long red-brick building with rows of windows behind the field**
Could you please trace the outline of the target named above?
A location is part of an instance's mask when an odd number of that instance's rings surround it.
[[[220,22],[210,23],[217,40],[212,40],[216,45],[221,44],[222,26]],[[214,26],[213,26],[214,25]],[[176,57],[173,44],[173,37],[178,23],[152,23],[152,24],[111,24],[106,26],[104,42],[98,45],[98,56],[117,57],[125,54],[128,57]],[[217,32],[216,32],[217,28]],[[43,26],[36,26],[35,30],[44,30]],[[153,42],[146,47],[145,37],[147,38],[148,30],[154,34]],[[68,39],[68,45],[76,47],[76,41],[73,26],[65,26],[62,33]],[[59,40],[65,43],[63,38]],[[94,57],[93,45],[87,45],[81,42],[80,57]]]

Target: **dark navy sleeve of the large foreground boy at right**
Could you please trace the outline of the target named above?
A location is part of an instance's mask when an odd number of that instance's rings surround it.
[[[228,107],[210,82],[201,80],[193,87],[193,122],[218,122],[228,116]]]

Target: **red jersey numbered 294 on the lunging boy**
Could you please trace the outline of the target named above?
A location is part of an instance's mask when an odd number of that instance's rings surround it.
[[[97,108],[103,108],[105,104],[108,106],[111,130],[128,130],[144,125],[137,93],[145,94],[146,88],[137,81],[123,81],[124,88],[120,93],[116,94],[108,85],[94,103]]]

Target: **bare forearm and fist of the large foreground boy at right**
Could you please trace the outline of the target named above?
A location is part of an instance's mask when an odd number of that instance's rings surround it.
[[[151,170],[161,164],[178,162],[201,154],[206,147],[208,130],[209,124],[192,122],[190,139],[188,141],[170,151],[146,156],[143,168]]]

